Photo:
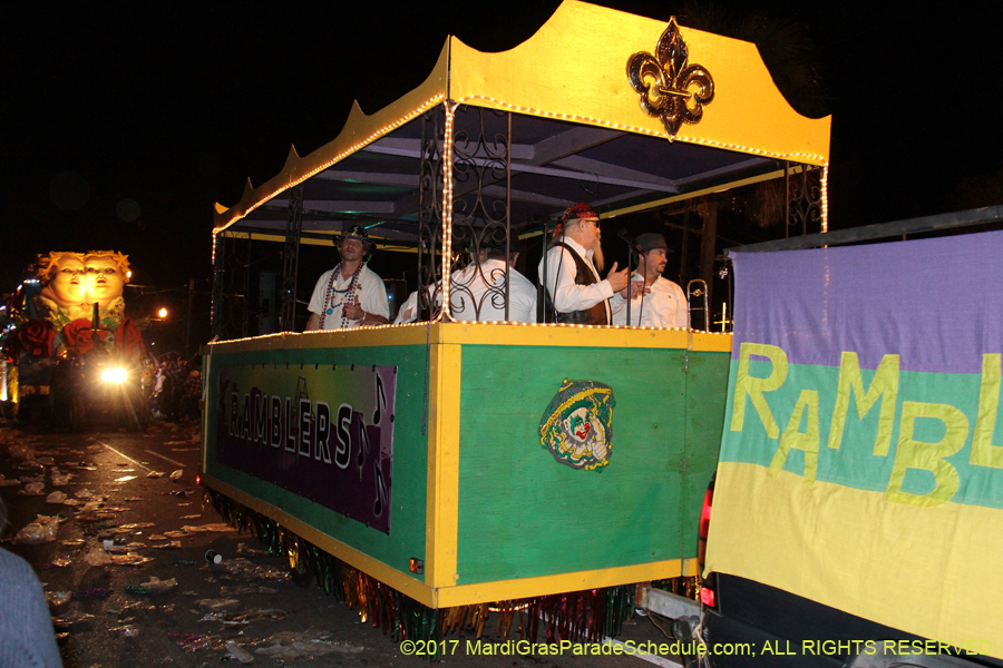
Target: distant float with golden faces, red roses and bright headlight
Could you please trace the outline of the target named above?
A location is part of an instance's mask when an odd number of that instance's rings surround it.
[[[123,298],[130,276],[128,256],[111,250],[39,256],[4,308],[2,400],[14,415],[38,409],[79,430],[111,412],[146,429],[143,336]]]

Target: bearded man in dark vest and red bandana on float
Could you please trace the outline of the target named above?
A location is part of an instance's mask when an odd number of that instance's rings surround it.
[[[600,279],[603,256],[598,214],[587,204],[569,206],[554,234],[555,240],[539,263],[547,320],[556,312],[558,323],[608,325],[610,297],[622,293],[626,298],[629,278],[627,269],[617,272],[613,263],[606,278]],[[631,289],[631,296],[640,294],[643,285],[632,285]]]

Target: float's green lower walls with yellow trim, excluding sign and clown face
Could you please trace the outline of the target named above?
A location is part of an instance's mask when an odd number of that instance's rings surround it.
[[[211,383],[213,370],[242,364],[292,375],[301,364],[397,367],[390,533],[217,463],[214,410],[204,470],[211,487],[430,607],[695,574],[730,343],[684,331],[466,323],[227,342],[212,348]],[[572,469],[539,443],[564,379],[613,387],[602,470]],[[211,384],[208,406],[217,394]],[[422,574],[408,571],[412,558]]]

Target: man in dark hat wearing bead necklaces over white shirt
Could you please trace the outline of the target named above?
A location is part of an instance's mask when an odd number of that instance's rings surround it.
[[[390,304],[383,279],[366,266],[376,244],[364,227],[352,225],[341,235],[341,262],[324,272],[310,297],[306,331],[344,330],[389,322]]]

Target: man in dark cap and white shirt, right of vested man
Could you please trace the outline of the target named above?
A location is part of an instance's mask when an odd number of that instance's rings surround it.
[[[631,325],[642,327],[689,327],[686,295],[675,283],[662,277],[668,263],[669,245],[660,234],[640,234],[634,239],[640,253],[637,271],[631,283],[644,286],[643,294],[631,301]],[[625,325],[626,299],[612,299],[613,324]]]

